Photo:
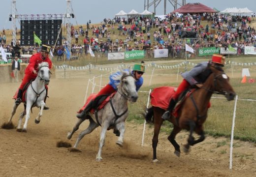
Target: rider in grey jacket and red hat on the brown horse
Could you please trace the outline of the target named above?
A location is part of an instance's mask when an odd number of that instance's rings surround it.
[[[222,55],[214,54],[210,62],[212,66],[223,67],[225,63],[225,57]],[[172,96],[167,111],[162,115],[162,118],[164,120],[167,120],[170,118],[170,113],[175,107],[177,100],[179,98],[179,95],[183,91],[188,89],[190,86],[194,86],[194,85],[197,86],[198,88],[202,87],[201,83],[204,83],[205,80],[208,78],[208,76],[211,74],[211,70],[207,69],[208,63],[209,62],[200,62],[195,67],[193,67],[192,70],[181,74],[181,76],[184,79],[179,85],[179,87],[177,88],[177,91],[175,92],[175,94]]]

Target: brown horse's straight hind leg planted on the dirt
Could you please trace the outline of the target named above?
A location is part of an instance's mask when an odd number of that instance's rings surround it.
[[[153,160],[152,162],[160,162],[157,159],[157,146],[158,146],[158,136],[159,136],[159,132],[160,132],[160,128],[163,122],[163,119],[161,118],[161,114],[155,114],[154,115],[154,136],[152,139],[152,148],[153,148]]]

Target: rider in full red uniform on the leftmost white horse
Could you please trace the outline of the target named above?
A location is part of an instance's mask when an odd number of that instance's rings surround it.
[[[31,80],[34,80],[37,76],[38,72],[38,64],[41,62],[48,62],[49,63],[49,68],[51,69],[52,67],[52,61],[49,59],[48,55],[50,52],[51,46],[48,45],[42,45],[41,51],[39,53],[36,53],[32,55],[30,58],[30,62],[25,69],[25,75],[22,80],[22,83],[19,87],[17,99],[15,100],[16,105],[19,105],[21,103],[21,98],[22,98],[22,91],[24,86],[30,82]],[[48,107],[44,107],[45,109],[49,109]]]

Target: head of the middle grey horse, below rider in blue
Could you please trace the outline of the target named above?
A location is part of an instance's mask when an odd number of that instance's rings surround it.
[[[118,89],[124,94],[128,101],[132,103],[137,101],[138,93],[136,91],[135,79],[130,73],[122,71]]]

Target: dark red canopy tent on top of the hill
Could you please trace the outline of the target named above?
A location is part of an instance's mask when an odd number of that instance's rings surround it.
[[[187,3],[186,5],[183,5],[182,7],[172,11],[172,13],[176,13],[176,12],[177,13],[204,13],[204,12],[214,13],[216,12],[216,10],[197,2],[197,3]]]

